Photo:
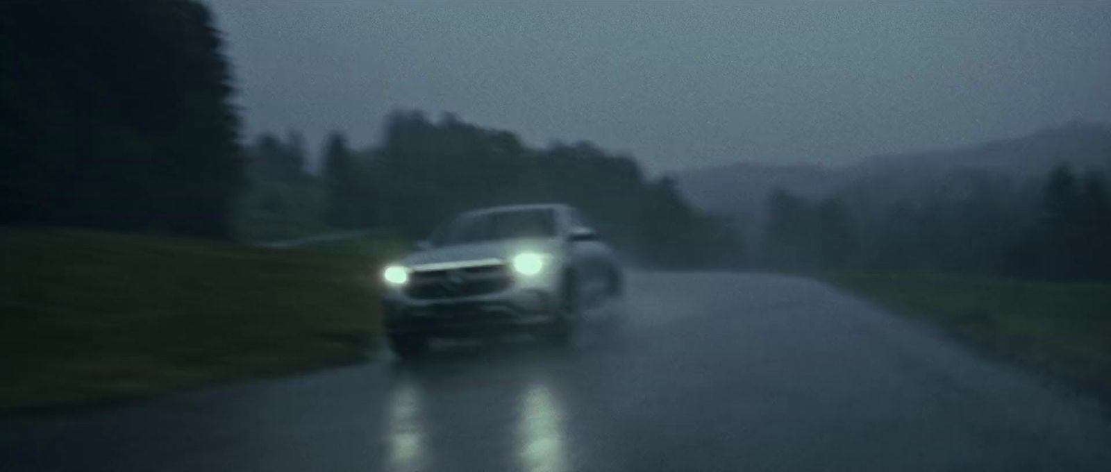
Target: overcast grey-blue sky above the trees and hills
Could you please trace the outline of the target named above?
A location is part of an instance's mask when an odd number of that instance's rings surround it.
[[[653,170],[861,157],[1111,122],[1111,2],[206,0],[247,132],[449,111]],[[316,149],[314,149],[316,150]]]

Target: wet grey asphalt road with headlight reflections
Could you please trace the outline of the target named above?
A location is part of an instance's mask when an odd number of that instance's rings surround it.
[[[632,278],[570,351],[441,347],[0,421],[4,471],[1111,470],[1091,399],[818,282]]]

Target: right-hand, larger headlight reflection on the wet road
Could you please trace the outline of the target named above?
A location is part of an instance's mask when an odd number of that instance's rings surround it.
[[[563,410],[548,385],[534,383],[526,389],[519,406],[517,433],[521,470],[568,470]]]

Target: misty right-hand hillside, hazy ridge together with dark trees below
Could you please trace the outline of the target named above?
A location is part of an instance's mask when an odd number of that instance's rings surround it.
[[[1102,279],[1109,171],[1111,128],[1070,122],[843,168],[737,163],[677,180],[741,222],[757,267]]]

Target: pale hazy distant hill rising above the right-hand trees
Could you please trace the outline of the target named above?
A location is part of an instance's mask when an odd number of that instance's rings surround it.
[[[760,225],[775,188],[860,201],[960,194],[973,184],[1021,185],[1059,163],[1078,170],[1111,169],[1111,128],[1071,122],[1024,137],[942,150],[864,158],[845,168],[751,162],[692,169],[674,174],[691,203]]]

